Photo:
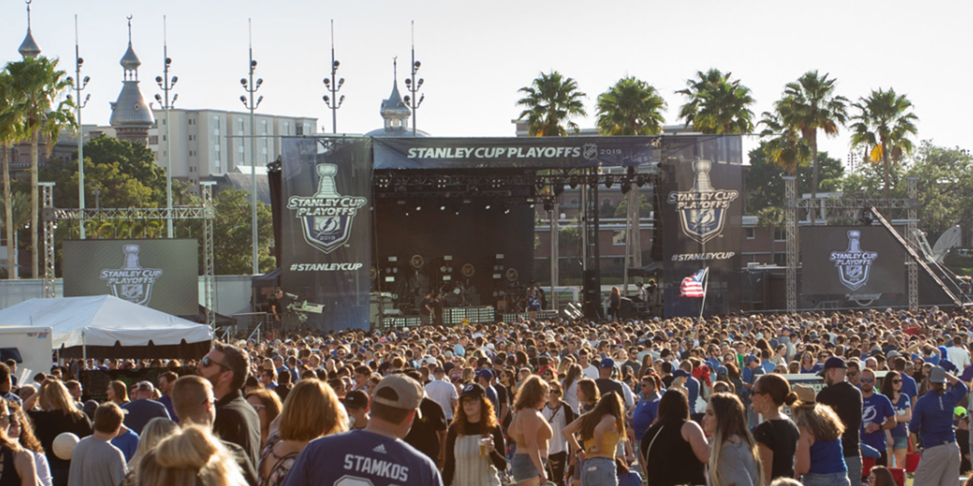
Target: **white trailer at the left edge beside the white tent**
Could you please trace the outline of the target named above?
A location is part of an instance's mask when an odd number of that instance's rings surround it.
[[[39,372],[50,373],[54,364],[51,328],[0,326],[0,358],[17,362],[19,383],[30,383]]]

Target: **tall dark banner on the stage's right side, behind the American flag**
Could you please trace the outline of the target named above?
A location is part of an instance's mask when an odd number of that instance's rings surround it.
[[[657,191],[664,244],[666,317],[740,309],[743,216],[738,135],[667,137]],[[683,295],[682,282],[708,268],[705,296]]]

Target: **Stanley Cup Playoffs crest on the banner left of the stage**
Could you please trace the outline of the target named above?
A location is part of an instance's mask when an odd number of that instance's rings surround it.
[[[338,193],[335,176],[338,165],[317,164],[317,191],[314,195],[292,195],[287,209],[301,221],[305,241],[324,253],[331,253],[348,240],[358,210],[368,198]]]

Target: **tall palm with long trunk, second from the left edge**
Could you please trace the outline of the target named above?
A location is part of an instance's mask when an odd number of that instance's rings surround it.
[[[70,100],[58,99],[71,83],[64,71],[57,69],[57,59],[44,56],[26,57],[21,61],[7,64],[7,70],[14,80],[13,87],[20,93],[18,109],[23,114],[23,129],[30,138],[30,270],[33,278],[40,276],[38,261],[40,251],[38,246],[39,207],[37,168],[39,159],[40,138],[46,140],[45,156],[50,156],[57,143],[57,137],[62,129],[75,127],[77,122],[71,108]]]

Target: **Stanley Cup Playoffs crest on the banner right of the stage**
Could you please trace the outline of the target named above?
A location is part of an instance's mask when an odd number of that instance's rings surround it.
[[[679,212],[682,232],[700,244],[723,232],[730,203],[739,197],[739,191],[713,188],[709,180],[711,168],[709,160],[697,159],[693,162],[696,177],[692,191],[671,191],[667,199]]]

